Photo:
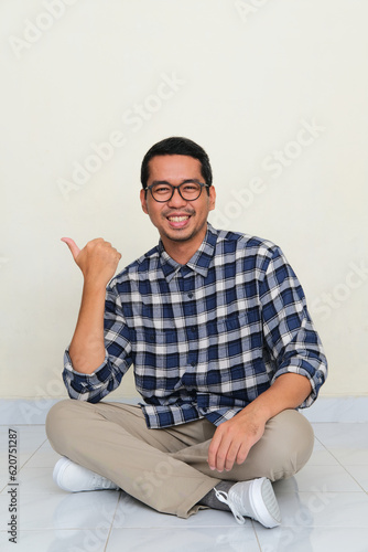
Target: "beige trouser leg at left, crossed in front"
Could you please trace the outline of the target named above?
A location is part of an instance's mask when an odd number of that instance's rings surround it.
[[[198,428],[195,429],[194,426]],[[117,484],[158,511],[186,518],[218,479],[171,456],[181,448],[210,439],[207,421],[175,428],[148,429],[139,406],[66,400],[54,405],[46,433],[61,455]],[[201,427],[199,427],[201,426]]]

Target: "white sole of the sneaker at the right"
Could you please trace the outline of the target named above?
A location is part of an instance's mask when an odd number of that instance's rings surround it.
[[[281,513],[269,479],[262,477],[252,481],[249,500],[257,514],[257,521],[269,529],[280,526]]]

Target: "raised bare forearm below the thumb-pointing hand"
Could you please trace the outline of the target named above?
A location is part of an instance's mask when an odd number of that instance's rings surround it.
[[[73,368],[90,374],[105,359],[105,286],[85,280],[77,325],[69,347]]]

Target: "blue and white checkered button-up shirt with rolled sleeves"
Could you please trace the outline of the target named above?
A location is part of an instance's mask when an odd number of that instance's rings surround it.
[[[309,378],[310,406],[327,374],[303,289],[278,246],[208,224],[186,265],[160,242],[107,288],[106,358],[94,374],[73,370],[69,396],[96,403],[131,364],[149,427],[231,418],[281,374]]]

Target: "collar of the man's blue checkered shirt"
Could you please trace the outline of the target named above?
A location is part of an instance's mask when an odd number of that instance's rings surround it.
[[[195,252],[193,257],[186,263],[186,265],[180,265],[174,261],[165,251],[162,241],[159,243],[159,255],[162,272],[167,282],[170,282],[175,274],[181,270],[182,275],[185,277],[192,270],[201,274],[201,276],[206,277],[209,268],[209,264],[215,254],[215,247],[217,242],[217,231],[207,223],[207,232],[204,241],[199,245],[198,250]]]

